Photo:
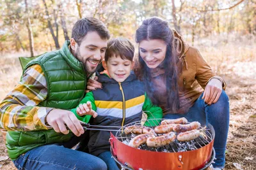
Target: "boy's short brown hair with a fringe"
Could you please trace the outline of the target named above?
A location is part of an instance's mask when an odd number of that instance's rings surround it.
[[[134,45],[127,38],[113,38],[108,41],[108,49],[105,53],[105,61],[108,62],[109,57],[120,55],[121,59],[131,60],[134,56]]]

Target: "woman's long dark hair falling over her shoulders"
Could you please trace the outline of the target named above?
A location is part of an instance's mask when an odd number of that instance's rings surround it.
[[[173,31],[163,19],[159,17],[147,18],[143,20],[142,25],[136,31],[136,43],[150,39],[162,39],[167,45],[166,55],[160,66],[165,69],[164,76],[166,77],[166,92],[168,95],[167,106],[175,113],[175,111],[179,110],[179,87],[177,83],[178,57],[175,50]],[[159,105],[159,101],[153,96],[157,89],[150,83],[150,68],[141,58],[140,50],[135,72],[138,78],[144,82],[145,90],[152,103]]]

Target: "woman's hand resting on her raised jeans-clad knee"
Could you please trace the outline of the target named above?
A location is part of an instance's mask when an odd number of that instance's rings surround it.
[[[205,87],[202,99],[204,99],[205,103],[209,105],[216,103],[220,98],[221,92],[222,82],[216,78],[212,78]]]

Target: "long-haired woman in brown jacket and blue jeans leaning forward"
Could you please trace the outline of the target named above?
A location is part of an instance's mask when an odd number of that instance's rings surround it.
[[[213,125],[213,167],[222,169],[229,122],[225,81],[161,18],[144,20],[136,31],[136,43],[139,56],[135,71],[152,102],[161,106],[164,118],[186,117],[189,122]]]

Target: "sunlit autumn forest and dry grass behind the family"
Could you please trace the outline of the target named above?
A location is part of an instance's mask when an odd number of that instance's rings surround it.
[[[22,74],[18,57],[59,49],[79,18],[99,18],[113,38],[133,42],[142,20],[164,18],[227,81],[225,169],[256,169],[255,0],[1,0],[0,12],[0,101]],[[2,137],[0,151],[0,169],[15,169]]]

